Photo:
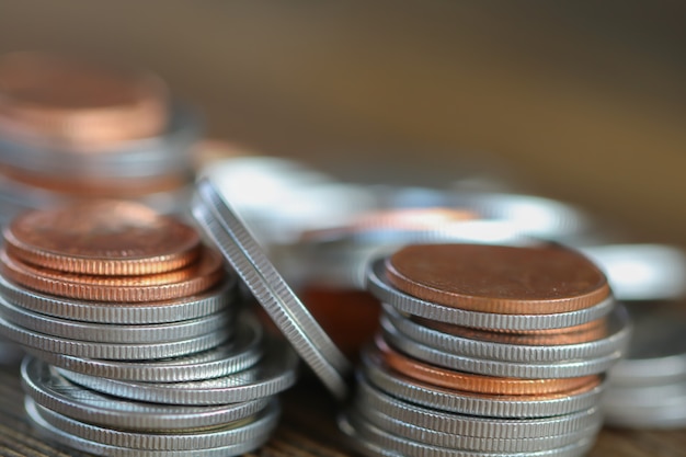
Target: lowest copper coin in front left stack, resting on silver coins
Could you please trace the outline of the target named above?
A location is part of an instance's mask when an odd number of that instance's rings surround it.
[[[221,256],[204,249],[199,261],[182,274],[141,276],[88,276],[38,269],[12,259],[0,250],[0,273],[20,286],[58,297],[91,301],[142,302],[174,300],[209,289],[225,277]],[[178,282],[170,283],[170,275]]]

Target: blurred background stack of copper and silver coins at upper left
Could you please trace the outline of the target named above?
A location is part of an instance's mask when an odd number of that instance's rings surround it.
[[[149,72],[48,53],[1,56],[0,222],[77,197],[179,210],[198,130]]]

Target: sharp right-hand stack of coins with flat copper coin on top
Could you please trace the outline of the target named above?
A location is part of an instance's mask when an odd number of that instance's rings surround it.
[[[381,330],[341,429],[367,455],[578,456],[629,336],[604,274],[558,245],[409,245],[374,262]]]

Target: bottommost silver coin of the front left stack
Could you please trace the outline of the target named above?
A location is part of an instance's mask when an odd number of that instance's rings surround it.
[[[254,450],[265,444],[270,437],[270,434],[265,433],[253,439],[244,441],[241,443],[232,443],[226,446],[207,449],[188,449],[188,450],[145,450],[135,449],[128,447],[110,446],[102,443],[96,443],[91,439],[83,439],[70,433],[66,433],[50,423],[45,421],[34,403],[26,403],[26,413],[37,429],[38,433],[46,436],[48,439],[56,441],[66,446],[73,447],[79,450],[92,453],[102,456],[110,457],[227,457],[238,456],[250,450]]]

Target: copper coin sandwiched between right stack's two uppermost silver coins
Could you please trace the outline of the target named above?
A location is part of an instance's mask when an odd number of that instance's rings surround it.
[[[563,329],[533,330],[528,332],[493,332],[469,327],[454,325],[426,318],[412,317],[412,320],[427,329],[436,330],[470,340],[489,341],[501,344],[522,344],[530,346],[554,346],[562,344],[580,344],[602,340],[607,336],[607,320],[597,319],[580,325]]]

